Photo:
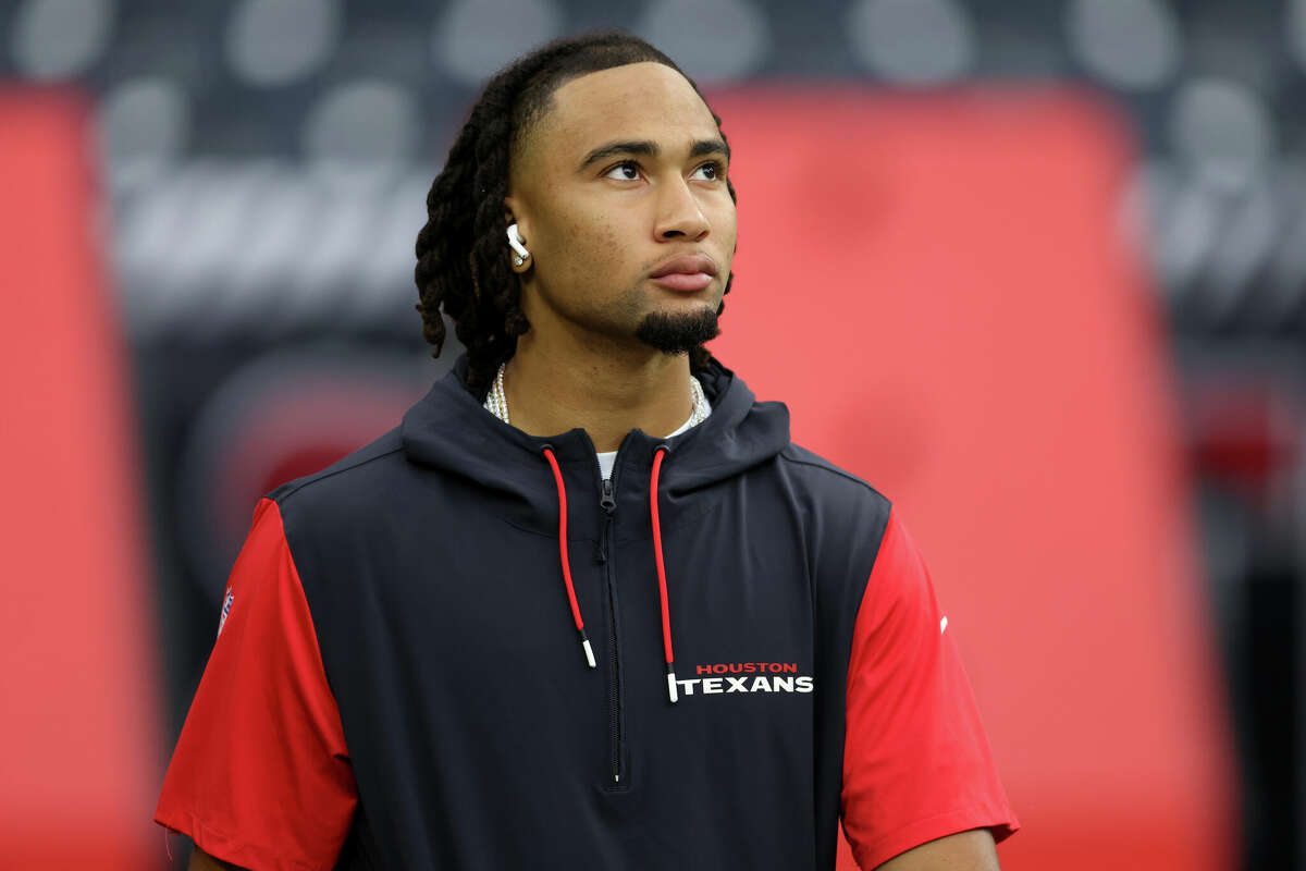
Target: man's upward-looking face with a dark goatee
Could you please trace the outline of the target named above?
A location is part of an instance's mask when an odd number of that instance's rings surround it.
[[[614,67],[554,91],[504,200],[532,255],[516,268],[532,329],[669,353],[710,338],[735,247],[727,162],[710,111],[670,67]]]

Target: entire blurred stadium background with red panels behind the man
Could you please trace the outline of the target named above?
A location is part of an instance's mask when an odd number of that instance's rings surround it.
[[[255,501],[452,364],[431,179],[601,26],[730,137],[714,353],[966,618],[1003,867],[1306,867],[1303,0],[0,0],[0,854],[168,866]]]

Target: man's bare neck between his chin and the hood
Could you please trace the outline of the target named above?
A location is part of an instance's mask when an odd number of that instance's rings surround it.
[[[594,449],[616,451],[631,430],[674,432],[693,407],[690,358],[650,347],[596,346],[543,337],[517,338],[504,372],[512,424],[533,436],[581,427]]]

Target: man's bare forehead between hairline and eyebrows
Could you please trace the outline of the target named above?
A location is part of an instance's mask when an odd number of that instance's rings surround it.
[[[652,140],[667,148],[714,138],[717,124],[680,73],[653,61],[611,67],[562,85],[541,119],[534,145],[552,159],[581,158],[613,140]]]

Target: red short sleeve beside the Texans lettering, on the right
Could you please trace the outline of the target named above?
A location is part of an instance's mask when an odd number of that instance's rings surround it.
[[[844,833],[870,871],[926,841],[1020,823],[998,780],[953,629],[930,572],[889,515],[848,670]]]

